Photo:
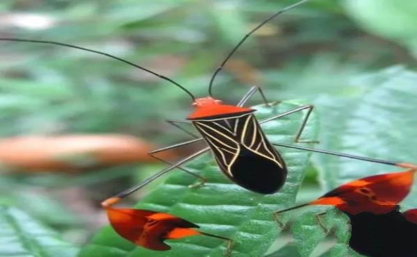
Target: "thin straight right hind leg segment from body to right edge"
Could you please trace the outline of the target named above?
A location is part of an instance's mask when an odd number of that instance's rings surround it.
[[[386,165],[391,165],[391,166],[397,166],[397,167],[410,169],[411,171],[416,171],[417,170],[417,165],[414,165],[414,164],[411,164],[411,163],[398,163],[398,162],[394,162],[394,161],[391,161],[391,160],[379,160],[379,159],[368,158],[368,157],[363,157],[363,156],[354,156],[352,154],[337,153],[337,152],[334,152],[334,151],[325,151],[325,150],[320,150],[320,149],[299,147],[297,145],[291,145],[291,144],[281,144],[281,143],[275,143],[275,142],[272,142],[271,144],[275,145],[277,147],[287,147],[287,148],[293,148],[293,149],[299,149],[299,150],[305,150],[305,151],[313,151],[315,153],[320,153],[320,154],[329,154],[329,155],[332,155],[332,156],[340,156],[340,157],[346,157],[346,158],[351,158],[351,159],[356,159],[356,160],[365,160],[365,161],[370,162],[370,163],[382,163],[382,164],[386,164]]]

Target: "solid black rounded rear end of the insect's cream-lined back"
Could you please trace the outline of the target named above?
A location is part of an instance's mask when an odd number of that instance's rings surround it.
[[[273,194],[284,185],[287,171],[274,161],[242,147],[231,166],[231,174],[232,179],[247,190]]]

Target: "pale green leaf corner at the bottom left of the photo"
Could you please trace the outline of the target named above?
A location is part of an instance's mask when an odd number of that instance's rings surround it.
[[[78,249],[16,208],[0,206],[1,257],[73,257]]]

